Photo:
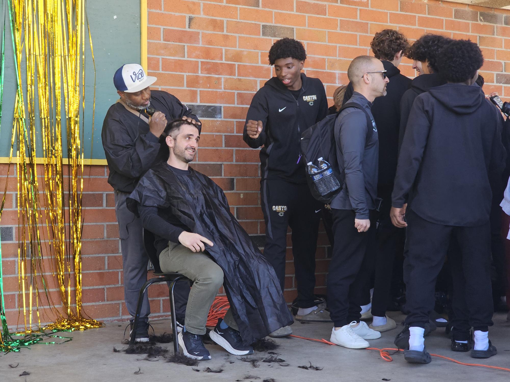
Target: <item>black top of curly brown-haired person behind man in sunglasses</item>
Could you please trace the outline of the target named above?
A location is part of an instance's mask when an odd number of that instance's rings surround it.
[[[381,62],[384,65],[390,82],[386,86],[386,96],[374,99],[371,111],[377,125],[377,136],[379,139],[377,193],[390,206],[393,181],[397,171],[400,100],[404,93],[409,90],[412,80],[400,74],[400,70],[391,62]],[[349,100],[353,91],[352,84],[349,83],[345,91],[344,103]]]

